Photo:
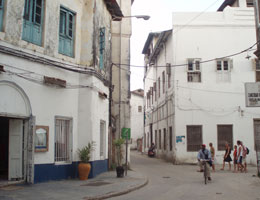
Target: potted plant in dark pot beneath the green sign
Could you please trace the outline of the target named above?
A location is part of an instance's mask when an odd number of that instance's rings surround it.
[[[125,143],[125,140],[123,138],[119,138],[117,140],[114,140],[113,145],[116,148],[116,159],[117,159],[117,167],[116,167],[116,173],[117,177],[123,177],[124,176],[124,167],[121,165],[122,161],[122,145]]]

